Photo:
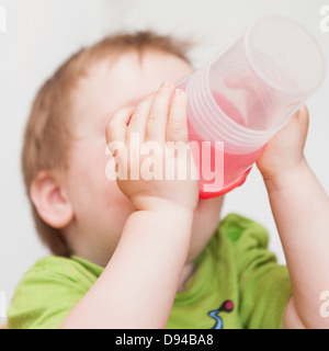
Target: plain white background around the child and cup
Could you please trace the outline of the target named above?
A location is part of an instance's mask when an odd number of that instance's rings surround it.
[[[200,45],[191,57],[200,67],[253,19],[282,14],[317,37],[329,66],[329,32],[319,27],[320,9],[329,5],[329,0],[0,0],[0,5],[7,9],[7,33],[0,33],[0,291],[8,302],[22,274],[48,254],[32,222],[20,154],[37,89],[70,54],[117,30],[152,29],[196,41]],[[307,105],[310,127],[306,156],[328,192],[329,77]],[[256,168],[242,188],[226,196],[224,215],[230,212],[263,224],[271,236],[270,249],[280,263],[285,263]]]

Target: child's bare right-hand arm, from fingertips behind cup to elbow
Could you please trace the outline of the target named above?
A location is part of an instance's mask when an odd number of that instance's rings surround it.
[[[258,161],[293,287],[285,328],[329,328],[320,315],[320,294],[329,290],[329,199],[304,157],[307,129],[304,106]]]

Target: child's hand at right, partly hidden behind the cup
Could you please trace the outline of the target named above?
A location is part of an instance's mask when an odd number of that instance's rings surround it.
[[[265,182],[281,186],[285,176],[305,165],[304,146],[308,131],[308,111],[304,105],[264,147],[257,166]]]

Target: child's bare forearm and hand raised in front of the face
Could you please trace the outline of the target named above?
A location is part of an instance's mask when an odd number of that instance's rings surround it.
[[[111,261],[99,280],[71,310],[63,328],[164,328],[172,308],[180,275],[189,252],[197,181],[144,180],[143,160],[134,160],[132,133],[140,143],[157,141],[155,157],[175,160],[174,150],[163,154],[166,141],[188,143],[185,94],[164,84],[135,110],[120,110],[106,128],[109,147],[116,155],[120,171],[131,170],[140,180],[117,180],[136,212],[128,218]],[[127,154],[122,149],[127,148]],[[141,147],[141,145],[140,145]],[[127,155],[134,154],[134,160]],[[163,161],[164,163],[166,161]],[[175,162],[170,165],[174,166]],[[162,163],[162,161],[161,161]],[[154,165],[159,165],[155,161]],[[166,162],[166,167],[168,167]],[[194,169],[192,166],[192,170]],[[195,171],[195,170],[194,170]],[[137,172],[137,173],[136,173]],[[122,173],[122,174],[123,174]]]

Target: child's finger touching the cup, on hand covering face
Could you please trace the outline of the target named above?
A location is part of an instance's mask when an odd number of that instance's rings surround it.
[[[167,124],[167,141],[189,143],[186,94],[175,89]]]

